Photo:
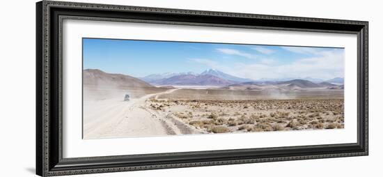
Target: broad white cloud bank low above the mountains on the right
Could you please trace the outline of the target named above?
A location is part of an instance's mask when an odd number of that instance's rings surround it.
[[[302,52],[313,51],[302,50]],[[261,78],[303,78],[331,79],[344,77],[343,50],[315,51],[315,55],[298,59],[291,63],[279,63],[274,59],[260,59],[254,63],[235,63],[232,66],[223,66],[208,59],[192,59],[205,64],[210,68],[217,68],[230,75],[249,79]]]

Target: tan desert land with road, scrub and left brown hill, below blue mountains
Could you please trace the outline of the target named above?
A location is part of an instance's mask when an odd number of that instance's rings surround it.
[[[101,70],[84,70],[83,84],[84,139],[344,128],[341,84],[155,86]]]

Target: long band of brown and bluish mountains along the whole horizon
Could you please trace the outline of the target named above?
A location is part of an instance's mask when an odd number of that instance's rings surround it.
[[[343,78],[329,79],[325,82],[311,82],[307,79],[290,79],[283,81],[251,81],[228,75],[219,70],[205,70],[201,74],[193,72],[167,73],[148,75],[136,78],[129,75],[111,74],[102,70],[86,69],[83,71],[83,83],[96,86],[118,87],[154,87],[157,86],[219,86],[230,90],[300,90],[306,88],[344,88]]]

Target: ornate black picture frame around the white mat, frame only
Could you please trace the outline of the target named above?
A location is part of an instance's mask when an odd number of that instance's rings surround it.
[[[357,35],[357,143],[63,158],[63,19],[222,26]],[[36,4],[36,174],[62,176],[368,155],[368,22],[93,3]]]

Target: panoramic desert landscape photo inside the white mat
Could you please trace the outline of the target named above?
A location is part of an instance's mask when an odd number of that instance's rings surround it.
[[[82,45],[83,139],[344,128],[344,48]]]

